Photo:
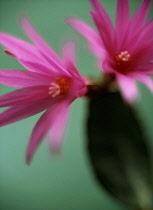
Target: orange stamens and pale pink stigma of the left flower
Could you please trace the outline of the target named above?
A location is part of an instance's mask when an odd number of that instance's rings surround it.
[[[54,98],[58,95],[66,93],[69,90],[69,87],[69,79],[55,77],[55,82],[52,82],[49,87],[49,94]]]

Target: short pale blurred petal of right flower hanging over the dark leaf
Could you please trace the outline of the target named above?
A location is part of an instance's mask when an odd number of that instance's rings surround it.
[[[128,103],[135,102],[135,100],[138,97],[138,89],[134,79],[121,74],[117,74],[117,79],[119,86],[121,88],[121,93],[123,95],[123,98]]]

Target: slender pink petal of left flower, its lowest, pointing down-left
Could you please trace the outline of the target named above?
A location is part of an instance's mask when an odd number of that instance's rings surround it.
[[[26,152],[27,164],[30,164],[33,154],[36,151],[37,147],[39,146],[45,135],[52,128],[59,114],[60,108],[61,108],[60,103],[53,104],[53,106],[50,109],[48,109],[36,123],[27,147],[27,152]]]

